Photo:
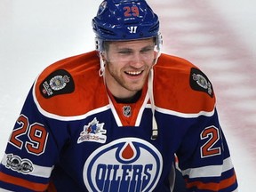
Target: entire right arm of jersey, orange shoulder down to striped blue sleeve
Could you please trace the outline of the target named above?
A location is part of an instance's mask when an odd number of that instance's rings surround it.
[[[174,116],[172,126],[180,136],[176,153],[188,191],[236,191],[236,172],[210,79],[178,57],[162,54],[157,65],[155,91],[164,94],[156,95],[155,103]]]

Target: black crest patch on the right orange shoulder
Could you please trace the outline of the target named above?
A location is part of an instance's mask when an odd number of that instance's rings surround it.
[[[213,97],[214,93],[212,84],[201,70],[197,68],[191,68],[189,81],[193,90],[198,92],[206,92],[208,95]]]

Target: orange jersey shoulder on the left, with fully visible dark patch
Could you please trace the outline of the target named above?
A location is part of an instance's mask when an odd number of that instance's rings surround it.
[[[36,79],[33,96],[41,112],[57,116],[81,116],[100,108],[107,99],[99,76],[97,52],[57,61]],[[92,102],[93,100],[93,102]]]

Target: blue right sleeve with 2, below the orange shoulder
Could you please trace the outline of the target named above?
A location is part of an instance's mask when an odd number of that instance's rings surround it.
[[[236,172],[216,108],[196,118],[177,155],[189,191],[236,191]]]

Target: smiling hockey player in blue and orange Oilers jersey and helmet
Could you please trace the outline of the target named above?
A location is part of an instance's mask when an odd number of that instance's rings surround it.
[[[105,0],[97,50],[36,79],[0,165],[0,191],[236,191],[207,76],[162,53],[144,0]]]

